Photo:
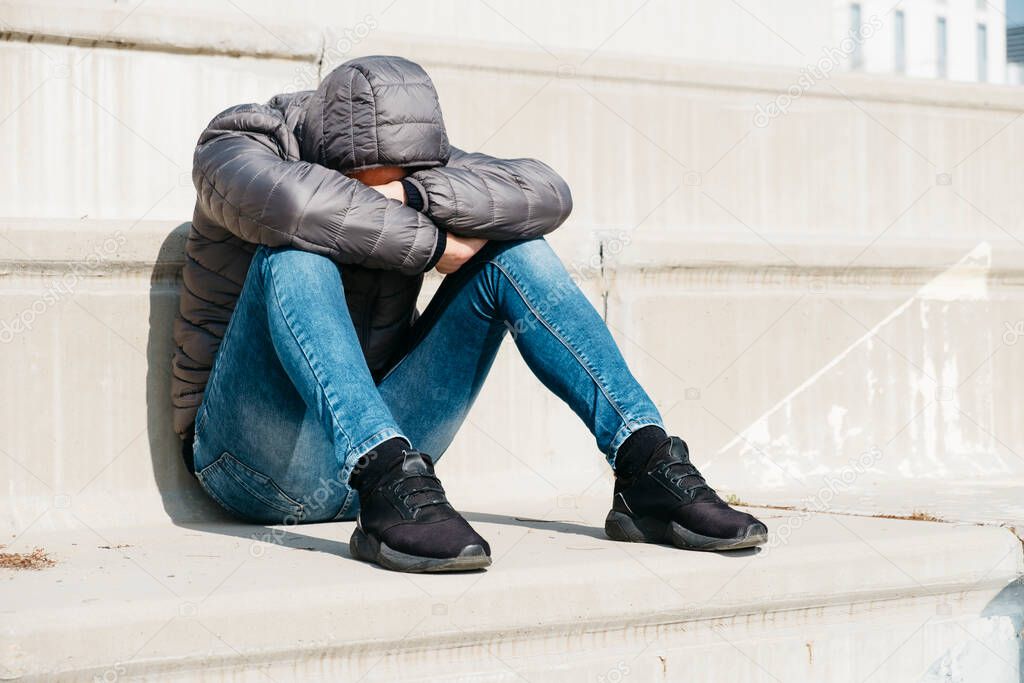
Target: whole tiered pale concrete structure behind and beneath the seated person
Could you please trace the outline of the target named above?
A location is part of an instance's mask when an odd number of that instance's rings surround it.
[[[0,544],[56,561],[0,569],[0,675],[1019,680],[1024,91],[785,101],[830,8],[759,10],[795,51],[739,3],[669,45],[658,5],[0,2]],[[439,464],[485,573],[203,495],[169,405],[196,138],[368,53],[427,68],[457,145],[567,178],[556,251],[712,483],[773,506],[766,551],[605,541],[608,468],[510,344]]]

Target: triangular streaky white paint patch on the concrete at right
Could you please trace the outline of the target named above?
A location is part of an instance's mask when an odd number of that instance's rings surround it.
[[[767,456],[774,463],[784,463],[787,471],[800,476],[811,475],[821,469],[827,470],[828,462],[835,460],[833,456],[842,457],[844,449],[863,445],[859,442],[852,443],[854,436],[869,436],[876,427],[873,424],[858,424],[855,421],[858,411],[851,409],[858,402],[869,407],[881,397],[894,405],[900,405],[898,395],[889,393],[886,396],[885,392],[902,392],[905,396],[902,405],[905,405],[906,414],[916,417],[901,436],[902,442],[909,445],[900,458],[891,461],[891,468],[906,477],[922,474],[944,476],[954,470],[963,474],[962,463],[958,462],[962,459],[951,459],[950,455],[973,458],[982,451],[991,450],[992,445],[989,439],[982,442],[975,438],[972,441],[968,435],[978,431],[975,425],[971,425],[971,429],[964,429],[961,413],[963,398],[957,395],[957,387],[964,372],[967,372],[961,370],[963,358],[959,356],[969,349],[951,341],[952,331],[944,324],[950,314],[949,304],[935,305],[934,302],[987,300],[990,296],[988,279],[991,257],[991,246],[985,242],[978,244],[754,420],[718,453],[721,455],[738,447],[739,459],[748,467]],[[906,330],[881,334],[887,326],[903,316],[914,305],[919,306],[918,314],[904,317],[901,324],[910,328],[916,326],[916,330],[911,330],[912,334],[906,334]],[[899,348],[889,337],[894,340],[916,338],[921,340],[921,346],[918,349]],[[859,362],[854,357],[855,354],[862,354],[865,358],[870,358],[879,352],[884,356],[879,358],[881,362]],[[820,408],[816,404],[810,408],[794,407],[798,397],[817,388],[821,380],[848,359],[858,371],[870,369],[865,370],[865,393],[862,396],[849,396],[843,403],[821,403]],[[849,387],[850,383],[844,382],[844,385]],[[808,401],[820,400],[817,392],[804,397]],[[842,397],[840,399],[843,400]],[[821,411],[827,412],[821,415]],[[827,440],[830,442],[795,442],[794,420],[813,420],[815,413],[827,425]],[[863,414],[867,416],[873,412],[866,411]],[[822,450],[827,453],[821,453]],[[757,459],[752,458],[754,455],[757,455]],[[778,481],[777,474],[777,470],[762,471],[756,478],[764,485],[778,485],[783,482]]]

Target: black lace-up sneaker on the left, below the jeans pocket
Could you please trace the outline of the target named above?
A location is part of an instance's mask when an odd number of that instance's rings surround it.
[[[394,571],[465,571],[490,564],[490,546],[444,497],[430,457],[403,458],[369,489],[348,547],[352,557]]]

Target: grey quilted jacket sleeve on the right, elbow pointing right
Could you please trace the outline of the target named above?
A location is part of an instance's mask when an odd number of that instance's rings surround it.
[[[496,159],[452,147],[446,166],[418,171],[424,212],[446,230],[487,240],[547,234],[572,211],[572,195],[536,159]]]

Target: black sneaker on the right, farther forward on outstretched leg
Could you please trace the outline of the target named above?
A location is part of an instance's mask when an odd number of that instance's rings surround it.
[[[677,436],[658,445],[631,479],[615,478],[604,532],[614,541],[688,550],[737,550],[768,539],[763,522],[733,510],[708,485]]]

